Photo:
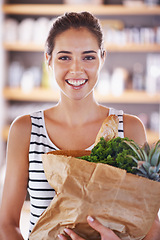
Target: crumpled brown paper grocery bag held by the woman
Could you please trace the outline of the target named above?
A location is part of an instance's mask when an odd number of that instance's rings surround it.
[[[35,225],[30,240],[58,240],[57,235],[65,227],[84,239],[98,240],[99,233],[86,221],[88,215],[122,240],[145,237],[160,208],[160,183],[73,157],[89,153],[55,151],[42,156],[46,177],[57,194]]]

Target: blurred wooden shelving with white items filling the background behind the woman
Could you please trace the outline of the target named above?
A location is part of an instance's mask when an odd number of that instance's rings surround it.
[[[43,3],[43,1],[38,2]],[[49,0],[45,1],[46,4],[37,4],[34,0],[7,0],[0,3],[3,14],[2,27],[6,30],[4,33],[9,33],[2,36],[1,44],[1,52],[4,53],[2,64],[4,77],[1,89],[4,113],[1,132],[5,147],[8,126],[17,115],[24,112],[27,114],[36,107],[41,109],[41,107],[54,105],[59,100],[59,91],[57,88],[48,86],[49,82],[46,80],[44,36],[47,37],[48,31],[44,33],[43,27],[45,24],[51,24],[58,15],[70,11],[89,11],[96,15],[102,24],[107,58],[100,80],[107,79],[109,75],[108,89],[111,89],[112,77],[117,70],[120,69],[121,73],[128,74],[123,94],[119,96],[115,96],[113,92],[111,94],[110,90],[107,91],[108,83],[106,83],[103,93],[96,88],[96,99],[108,107],[123,109],[126,113],[139,116],[144,120],[149,142],[156,141],[160,137],[160,127],[158,128],[160,91],[158,87],[152,89],[154,82],[152,78],[147,78],[147,72],[150,71],[149,60],[153,59],[151,62],[154,62],[156,57],[160,56],[160,5],[142,4],[129,7],[122,5],[121,0],[116,0],[117,5],[112,4],[115,1],[108,0],[100,5],[71,5],[63,2],[63,0]],[[31,22],[33,26],[29,25]],[[10,30],[8,30],[9,24]],[[22,30],[29,26],[30,32],[28,31],[25,35],[25,31]],[[42,27],[38,30],[37,26]],[[34,36],[33,33],[35,33]],[[39,36],[38,39],[37,36]],[[33,72],[37,74],[36,80],[35,76],[33,78]],[[27,77],[28,74],[32,76],[31,81]],[[139,78],[136,84],[133,84],[134,77]],[[24,92],[21,89],[24,79],[34,85],[30,92]],[[152,94],[147,94],[147,81],[150,83]],[[46,85],[48,88],[45,88]]]

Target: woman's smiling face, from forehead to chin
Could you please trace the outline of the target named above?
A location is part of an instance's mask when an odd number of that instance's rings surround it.
[[[62,93],[80,100],[95,87],[103,61],[96,37],[71,28],[56,37],[50,65]]]

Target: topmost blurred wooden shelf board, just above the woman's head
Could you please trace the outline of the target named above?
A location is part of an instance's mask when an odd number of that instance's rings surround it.
[[[84,11],[84,5],[67,4],[4,4],[5,14],[15,15],[60,15],[65,12]],[[123,5],[85,5],[85,11],[95,15],[160,15],[160,6],[127,7]]]

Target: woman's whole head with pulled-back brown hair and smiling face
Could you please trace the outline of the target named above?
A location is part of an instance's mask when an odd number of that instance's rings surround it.
[[[49,33],[46,58],[63,93],[81,90],[84,95],[76,96],[80,99],[93,91],[97,83],[105,59],[103,34],[98,20],[91,14],[70,13],[65,16],[58,18]]]

